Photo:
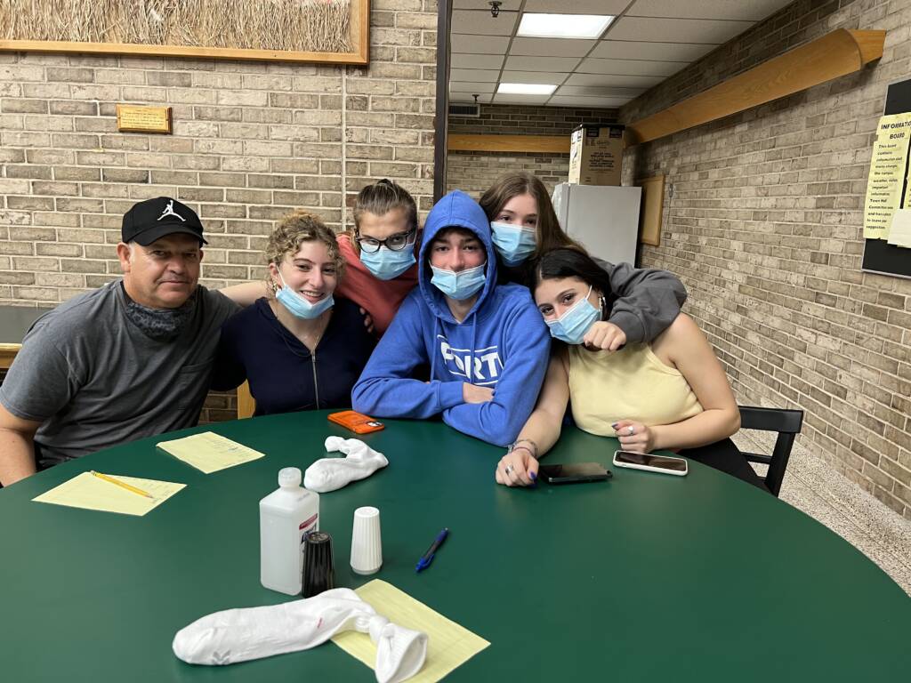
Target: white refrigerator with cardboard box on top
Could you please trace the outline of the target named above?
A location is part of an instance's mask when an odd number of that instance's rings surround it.
[[[570,185],[554,188],[560,227],[592,256],[610,263],[636,263],[641,188]]]

